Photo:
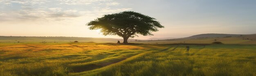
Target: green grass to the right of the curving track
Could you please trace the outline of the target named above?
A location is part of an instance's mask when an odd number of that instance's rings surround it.
[[[255,45],[172,46],[151,51],[126,61],[71,75],[126,76],[255,76]],[[236,48],[230,48],[236,47]],[[245,48],[246,47],[246,48]],[[240,48],[240,49],[237,49]],[[174,49],[174,50],[173,50]]]

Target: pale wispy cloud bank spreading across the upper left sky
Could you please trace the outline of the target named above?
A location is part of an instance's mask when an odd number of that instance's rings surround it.
[[[0,0],[2,21],[63,21],[76,17],[95,17],[127,11],[131,8],[110,8],[119,5],[112,0]],[[81,8],[81,6],[84,6]]]

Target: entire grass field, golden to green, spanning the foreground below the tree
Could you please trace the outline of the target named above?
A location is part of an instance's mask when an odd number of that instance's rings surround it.
[[[0,76],[256,76],[255,44],[4,41]]]

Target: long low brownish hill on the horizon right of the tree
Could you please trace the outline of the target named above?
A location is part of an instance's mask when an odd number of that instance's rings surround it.
[[[211,44],[212,42],[224,44],[256,44],[256,34],[199,34],[186,38],[166,40],[140,40],[144,44]]]

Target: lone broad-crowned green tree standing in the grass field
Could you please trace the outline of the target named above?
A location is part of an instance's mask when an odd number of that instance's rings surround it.
[[[133,11],[104,15],[86,25],[90,26],[90,30],[100,29],[104,36],[117,35],[123,37],[124,44],[128,43],[128,38],[138,37],[137,34],[152,36],[151,32],[157,32],[157,28],[164,27],[155,18]]]

